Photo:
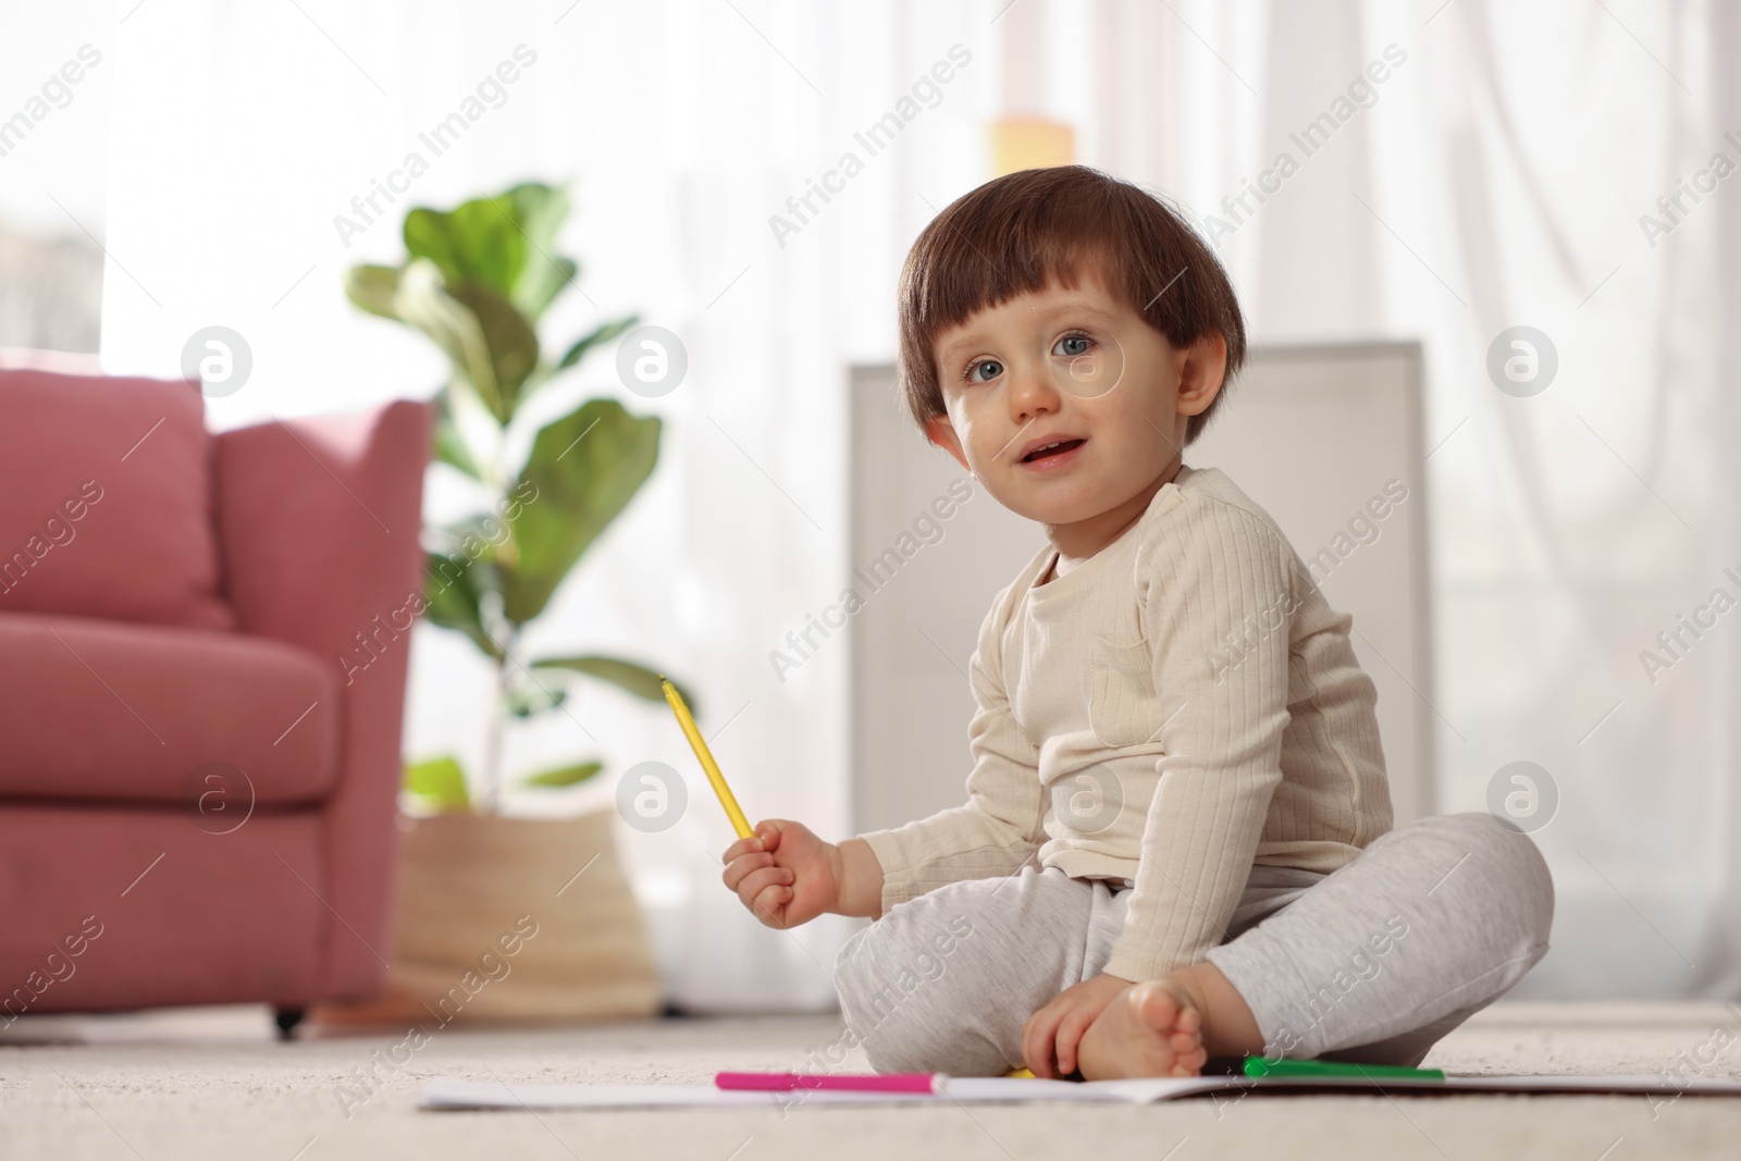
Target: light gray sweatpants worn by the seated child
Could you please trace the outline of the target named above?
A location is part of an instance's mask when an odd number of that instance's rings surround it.
[[[1100,973],[1128,898],[1126,881],[1031,863],[900,903],[841,947],[846,1025],[883,1072],[1020,1067],[1027,1017]],[[1551,923],[1529,837],[1440,815],[1328,876],[1252,867],[1208,961],[1250,1006],[1264,1055],[1412,1067],[1546,954]]]

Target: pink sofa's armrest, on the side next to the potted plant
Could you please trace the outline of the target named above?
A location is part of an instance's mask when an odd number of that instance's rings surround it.
[[[381,957],[392,954],[393,818],[411,618],[423,607],[428,451],[430,407],[418,402],[216,437],[225,590],[242,632],[301,646],[339,679],[341,703],[310,710],[339,717],[324,865],[294,867],[336,914],[320,949],[327,997],[376,992]]]

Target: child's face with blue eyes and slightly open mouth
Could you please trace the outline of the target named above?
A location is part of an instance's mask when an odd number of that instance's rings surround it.
[[[935,355],[947,416],[926,423],[931,442],[1003,507],[1071,526],[1146,507],[1172,479],[1227,345],[1173,346],[1088,268],[1074,289],[1052,282],[980,310],[940,334]],[[1062,447],[1036,451],[1052,442]]]

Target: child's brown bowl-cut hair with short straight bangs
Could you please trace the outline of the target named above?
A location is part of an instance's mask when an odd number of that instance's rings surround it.
[[[944,414],[937,336],[1048,282],[1074,287],[1085,263],[1173,346],[1215,332],[1227,339],[1222,390],[1186,421],[1186,442],[1198,437],[1245,364],[1233,284],[1177,211],[1088,165],[987,181],[951,202],[912,244],[900,272],[898,378],[921,430]]]

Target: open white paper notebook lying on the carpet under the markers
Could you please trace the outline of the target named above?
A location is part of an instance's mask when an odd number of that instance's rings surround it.
[[[1654,1102],[1682,1095],[1741,1097],[1741,1081],[1668,1076],[1447,1076],[1445,1079],[1193,1076],[1140,1081],[1039,1081],[949,1077],[938,1093],[851,1093],[834,1090],[733,1091],[710,1084],[507,1084],[437,1077],[423,1086],[423,1109],[790,1109],[794,1105],[874,1105],[958,1100],[1022,1104],[1067,1100],[1135,1104],[1226,1090],[1433,1093],[1642,1093]]]

